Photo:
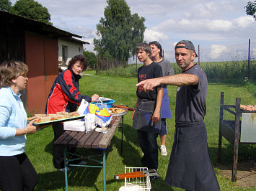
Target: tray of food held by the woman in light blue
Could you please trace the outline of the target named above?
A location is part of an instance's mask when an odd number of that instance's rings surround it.
[[[85,115],[79,115],[77,111],[68,113],[65,111],[57,112],[55,114],[35,114],[30,118],[27,118],[27,121],[35,120],[33,123],[34,126],[46,126],[53,125],[65,121],[73,121],[84,118]]]

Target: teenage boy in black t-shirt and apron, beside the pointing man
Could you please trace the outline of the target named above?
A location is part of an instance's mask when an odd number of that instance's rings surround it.
[[[162,67],[150,58],[151,47],[141,43],[136,47],[138,60],[144,65],[138,68],[138,83],[151,78],[162,77]],[[156,138],[161,128],[160,109],[163,97],[162,85],[146,93],[143,85],[138,86],[137,102],[133,111],[133,128],[138,131],[138,143],[144,156],[141,158],[143,167],[148,169],[158,168],[158,145]],[[151,177],[151,180],[158,176]]]

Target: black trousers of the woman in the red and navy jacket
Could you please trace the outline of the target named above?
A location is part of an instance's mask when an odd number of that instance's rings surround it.
[[[63,124],[54,124],[53,125],[53,131],[54,131],[54,138],[53,142],[55,142],[65,131],[63,128]],[[76,153],[75,147],[68,147],[68,152]],[[81,160],[73,161],[72,164],[77,164],[81,162]],[[63,146],[58,146],[56,144],[53,144],[53,165],[56,167],[56,169],[62,169],[65,167],[64,165],[64,148]]]

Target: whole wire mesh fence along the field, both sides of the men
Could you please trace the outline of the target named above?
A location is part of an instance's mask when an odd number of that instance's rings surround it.
[[[252,79],[256,80],[256,42],[239,42],[232,45],[211,45],[200,48],[198,45],[196,63],[206,72],[208,79]],[[128,67],[129,66],[129,67]],[[180,67],[172,63],[175,73]],[[97,71],[107,75],[136,77],[137,65],[120,60],[97,57]]]

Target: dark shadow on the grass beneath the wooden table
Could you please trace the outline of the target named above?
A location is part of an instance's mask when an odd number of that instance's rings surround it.
[[[53,141],[50,141],[48,145],[45,146],[45,152],[53,154]],[[82,160],[87,162],[88,165],[94,167],[70,167],[68,172],[68,182],[69,187],[91,187],[92,190],[97,189],[97,178],[102,171],[102,150],[100,149],[81,149],[76,148],[76,152],[82,157]],[[112,146],[107,147],[105,152],[106,161],[108,154],[112,152]],[[94,157],[92,157],[94,156]],[[89,159],[90,158],[90,159]],[[96,159],[95,162],[91,159]],[[98,166],[98,167],[96,167]],[[52,178],[49,178],[52,177]],[[45,182],[47,180],[48,182]],[[103,182],[103,177],[102,177]],[[102,183],[103,184],[103,183]],[[37,190],[65,190],[65,174],[59,172],[58,169],[54,172],[46,172],[38,174]]]

